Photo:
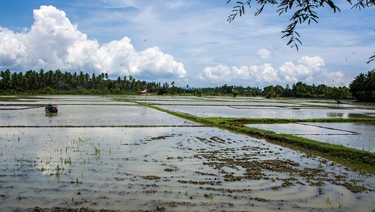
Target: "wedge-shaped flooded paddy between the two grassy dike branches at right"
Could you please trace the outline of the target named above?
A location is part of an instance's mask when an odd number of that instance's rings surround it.
[[[288,124],[247,124],[246,126],[375,152],[374,124],[302,122]]]

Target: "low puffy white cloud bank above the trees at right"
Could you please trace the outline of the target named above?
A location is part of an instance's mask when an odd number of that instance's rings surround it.
[[[241,67],[233,66],[231,68],[226,65],[206,67],[196,78],[217,85],[237,82],[245,86],[285,85],[298,81],[309,84],[342,86],[348,85],[352,81],[351,77],[345,76],[340,71],[327,72],[324,66],[323,58],[305,56],[298,59],[297,63],[292,61],[284,62],[278,69],[273,68],[271,63]]]

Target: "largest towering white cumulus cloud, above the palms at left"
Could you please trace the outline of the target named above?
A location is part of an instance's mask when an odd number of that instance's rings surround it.
[[[54,6],[33,11],[34,23],[20,33],[0,27],[0,68],[106,72],[143,79],[184,78],[184,65],[159,47],[136,51],[124,37],[100,44],[87,39]]]

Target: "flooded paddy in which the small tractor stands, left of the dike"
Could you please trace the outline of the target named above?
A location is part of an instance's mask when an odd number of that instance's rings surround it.
[[[45,114],[44,108],[0,110],[0,125],[2,126],[186,124],[192,123],[140,105],[60,105],[58,114]]]

